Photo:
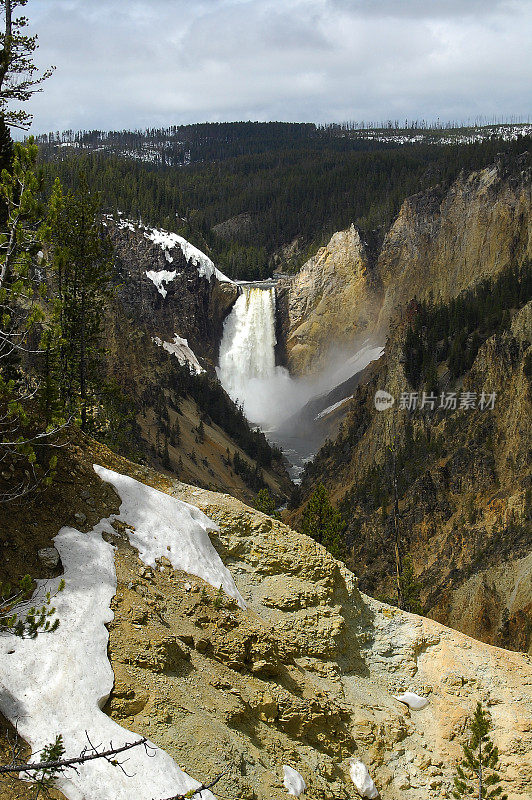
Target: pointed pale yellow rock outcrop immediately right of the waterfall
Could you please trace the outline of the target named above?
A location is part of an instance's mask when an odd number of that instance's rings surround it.
[[[356,228],[335,233],[296,276],[282,278],[277,299],[293,373],[317,372],[334,349],[352,351],[375,325],[380,307]]]

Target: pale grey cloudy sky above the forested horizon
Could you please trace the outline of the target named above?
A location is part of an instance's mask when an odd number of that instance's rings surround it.
[[[532,115],[532,0],[29,0],[33,132]]]

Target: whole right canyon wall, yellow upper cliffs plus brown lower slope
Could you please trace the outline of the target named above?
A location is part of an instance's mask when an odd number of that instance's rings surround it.
[[[458,397],[468,391],[478,397],[495,393],[492,410],[444,413],[436,407],[431,413],[430,408],[408,411],[398,406],[403,392],[419,391],[420,398],[423,390],[429,392],[425,375],[416,374],[413,385],[407,372],[408,330],[418,307],[410,301],[417,297],[445,304],[483,280],[496,281],[526,264],[532,253],[531,191],[529,159],[522,157],[461,176],[445,195],[434,189],[405,201],[368,270],[382,305],[365,333],[369,337],[387,331],[385,355],[366,371],[353,399],[342,407],[339,435],[308,466],[303,503],[291,517],[297,524],[313,487],[325,483],[348,519],[348,563],[361,585],[370,594],[393,597],[390,453],[396,449],[401,548],[403,555],[412,556],[426,613],[484,641],[519,650],[532,646],[530,302],[525,298],[521,308],[506,307],[503,294],[494,296],[506,308],[501,317],[505,322],[481,337],[485,341],[478,353],[479,331],[464,339],[461,347],[464,354],[471,351],[473,362],[458,378],[450,373],[448,358],[439,355],[449,343],[437,342],[432,353],[436,372],[430,380],[438,384],[438,404],[441,392],[454,390]],[[322,263],[350,263],[347,240],[353,242],[349,232],[337,236],[339,249],[324,251]],[[352,275],[359,263],[357,251]],[[310,266],[316,268],[315,263]],[[322,269],[326,273],[327,267]],[[345,275],[344,268],[336,280],[329,276],[329,295],[345,296]],[[324,304],[315,302],[321,275],[314,275],[311,291],[303,289],[308,286],[304,277],[305,270],[288,289],[288,308],[306,308],[302,318],[292,311],[292,341],[298,330],[311,330],[319,358],[335,330],[334,304],[321,316]],[[350,291],[360,281],[352,280]],[[338,315],[342,333],[350,312],[355,324],[360,319],[358,307],[343,308]],[[460,313],[466,319],[467,307]],[[489,331],[493,323],[485,322],[482,327]],[[423,339],[423,329],[420,335]],[[295,344],[289,348],[290,358],[296,370],[309,363]],[[392,409],[376,410],[377,390],[392,395]]]

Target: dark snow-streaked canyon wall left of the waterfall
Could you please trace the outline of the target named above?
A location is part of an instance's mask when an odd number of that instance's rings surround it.
[[[251,502],[290,492],[278,454],[215,376],[223,321],[238,287],[181,237],[105,220],[114,250],[103,364],[116,426],[104,441],[126,456]],[[238,468],[235,468],[235,461]]]

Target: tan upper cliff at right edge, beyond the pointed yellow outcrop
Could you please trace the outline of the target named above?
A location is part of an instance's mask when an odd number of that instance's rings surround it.
[[[378,258],[381,323],[411,298],[447,302],[483,278],[532,257],[528,154],[460,176],[403,203]]]

